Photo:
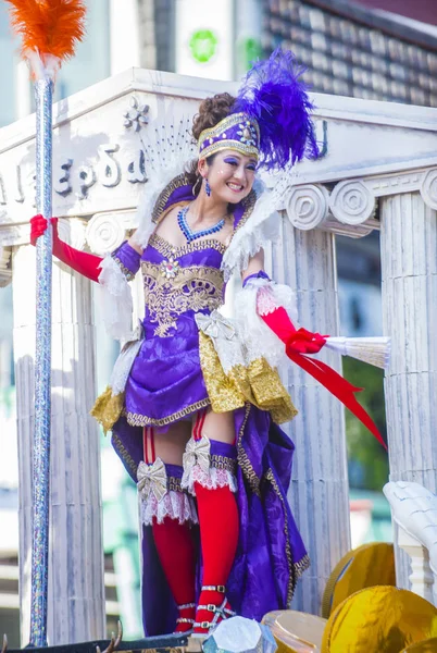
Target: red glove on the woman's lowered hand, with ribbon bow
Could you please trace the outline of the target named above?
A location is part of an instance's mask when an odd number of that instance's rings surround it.
[[[282,306],[273,312],[260,316],[274,333],[285,343],[287,354],[316,354],[326,344],[326,337],[296,326]]]

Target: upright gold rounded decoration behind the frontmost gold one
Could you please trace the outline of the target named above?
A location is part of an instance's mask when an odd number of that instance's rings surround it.
[[[340,559],[326,583],[322,616],[327,619],[345,599],[374,586],[396,586],[392,544],[363,544]]]

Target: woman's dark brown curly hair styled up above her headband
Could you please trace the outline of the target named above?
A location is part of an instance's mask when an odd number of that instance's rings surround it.
[[[230,113],[234,106],[235,98],[228,93],[221,93],[212,98],[205,98],[200,102],[199,113],[197,113],[192,121],[192,137],[196,143],[199,140],[200,134],[203,130],[215,127],[221,120],[226,118]],[[207,158],[208,165],[214,160],[215,155],[211,155]],[[201,187],[200,175],[197,171],[198,160],[193,159],[188,163],[187,167],[187,178],[189,184],[192,186],[193,195],[199,195]]]

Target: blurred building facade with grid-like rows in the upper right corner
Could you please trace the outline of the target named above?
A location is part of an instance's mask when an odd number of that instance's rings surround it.
[[[410,15],[414,5],[409,3]],[[437,9],[428,7],[427,15],[435,19]],[[358,0],[266,0],[263,45],[269,52],[279,44],[307,66],[305,81],[314,91],[437,106],[434,25]]]

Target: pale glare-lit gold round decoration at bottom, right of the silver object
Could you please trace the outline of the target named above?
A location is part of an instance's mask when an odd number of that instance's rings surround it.
[[[276,653],[320,653],[326,619],[282,609],[267,613],[262,623],[272,630]]]

